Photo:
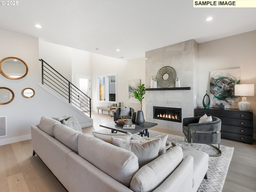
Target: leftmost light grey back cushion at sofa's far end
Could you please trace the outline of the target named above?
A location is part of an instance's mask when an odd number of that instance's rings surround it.
[[[57,124],[61,124],[61,123],[57,120],[50,118],[50,117],[42,116],[40,123],[39,123],[39,128],[42,131],[46,132],[48,135],[54,137],[53,130],[54,130],[54,126]]]

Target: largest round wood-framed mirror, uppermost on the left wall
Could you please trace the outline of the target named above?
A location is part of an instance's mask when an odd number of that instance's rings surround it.
[[[8,79],[21,79],[28,74],[28,66],[19,58],[6,57],[0,62],[0,73]]]

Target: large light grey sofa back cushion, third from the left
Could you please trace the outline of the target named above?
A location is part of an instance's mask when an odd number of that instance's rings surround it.
[[[78,155],[127,187],[139,169],[134,153],[88,134],[78,137]]]

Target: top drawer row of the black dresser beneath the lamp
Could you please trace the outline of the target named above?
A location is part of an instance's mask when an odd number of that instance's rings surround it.
[[[202,116],[204,114],[207,114],[207,116],[216,116],[216,117],[226,117],[226,118],[238,118],[238,119],[247,119],[252,120],[253,113],[250,111],[240,111],[235,109],[204,109],[199,108],[198,109],[198,115]]]

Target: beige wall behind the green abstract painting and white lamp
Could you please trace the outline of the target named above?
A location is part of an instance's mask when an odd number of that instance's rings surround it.
[[[210,71],[234,68],[240,68],[241,84],[254,84],[256,88],[256,30],[199,44],[199,106],[206,90],[210,91]],[[248,96],[247,101],[256,111],[256,94]]]

